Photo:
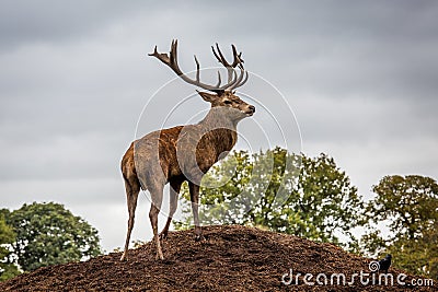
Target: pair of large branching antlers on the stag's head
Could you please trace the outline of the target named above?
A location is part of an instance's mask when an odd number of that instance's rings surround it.
[[[157,50],[157,46],[153,49],[153,52],[149,54],[149,56],[155,57],[158,58],[160,61],[162,61],[163,63],[165,63],[166,66],[169,66],[178,77],[181,77],[181,79],[183,79],[185,82],[196,85],[198,87],[201,87],[204,90],[207,91],[212,91],[216,93],[219,92],[223,92],[223,91],[231,91],[234,90],[239,86],[242,86],[246,80],[247,80],[247,72],[245,71],[245,69],[243,68],[243,60],[241,58],[242,52],[237,51],[234,45],[231,45],[232,51],[233,51],[233,62],[230,65],[226,58],[223,57],[222,52],[219,49],[219,45],[216,44],[216,48],[218,51],[215,50],[215,47],[212,48],[212,52],[215,55],[215,57],[218,59],[218,61],[223,65],[227,68],[228,71],[228,83],[224,85],[220,85],[221,84],[221,77],[220,77],[220,72],[218,71],[218,83],[216,85],[210,85],[210,84],[206,84],[200,82],[200,66],[198,62],[198,59],[195,57],[195,63],[196,63],[196,78],[191,79],[188,78],[181,69],[180,66],[177,63],[177,55],[176,55],[176,49],[177,49],[177,39],[172,40],[172,45],[171,45],[171,50],[168,54],[161,54],[158,52]],[[235,72],[235,67],[239,67],[240,70],[240,74],[238,77],[237,72]]]

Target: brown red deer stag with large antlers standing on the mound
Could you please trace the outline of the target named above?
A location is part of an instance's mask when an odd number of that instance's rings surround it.
[[[176,48],[177,40],[173,40],[170,55],[158,52],[155,46],[154,51],[149,56],[153,56],[169,66],[185,82],[211,92],[198,92],[204,101],[211,104],[211,108],[198,124],[148,133],[134,141],[125,153],[122,160],[122,172],[125,179],[129,220],[125,249],[120,260],[127,259],[140,187],[143,190],[148,189],[151,195],[149,219],[153,230],[157,258],[163,259],[160,238],[165,238],[168,235],[169,225],[176,211],[181,184],[185,180],[188,182],[191,192],[195,238],[197,241],[203,238],[198,218],[200,179],[219,159],[222,159],[234,147],[238,139],[238,122],[252,116],[255,112],[254,106],[234,95],[233,90],[243,85],[247,80],[247,72],[243,68],[241,58],[242,52],[238,54],[234,45],[232,45],[232,63],[226,60],[217,44],[216,49],[211,47],[215,57],[227,68],[228,83],[224,85],[221,85],[219,72],[216,85],[200,82],[199,62],[196,56],[196,78],[191,79],[183,73],[177,63]],[[158,214],[163,198],[163,187],[168,183],[171,186],[170,211],[166,224],[159,235]]]

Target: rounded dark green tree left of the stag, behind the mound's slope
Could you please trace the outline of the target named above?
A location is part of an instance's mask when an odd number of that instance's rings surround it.
[[[16,234],[13,253],[25,271],[101,254],[97,231],[62,205],[23,205],[7,222]]]

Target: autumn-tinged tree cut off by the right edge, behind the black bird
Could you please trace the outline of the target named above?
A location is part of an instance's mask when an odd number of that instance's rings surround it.
[[[368,254],[391,254],[394,266],[413,273],[438,278],[438,185],[418,175],[383,177],[372,188],[376,198],[367,206],[370,232],[362,237]],[[389,234],[377,225],[387,222]]]

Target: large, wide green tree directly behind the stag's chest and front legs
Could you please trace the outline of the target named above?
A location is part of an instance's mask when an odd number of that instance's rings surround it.
[[[183,197],[189,198],[187,188]],[[361,223],[361,198],[348,176],[325,154],[308,157],[276,148],[231,153],[203,178],[204,224],[262,226],[320,242],[356,243],[351,229]],[[188,225],[191,208],[183,203]]]

